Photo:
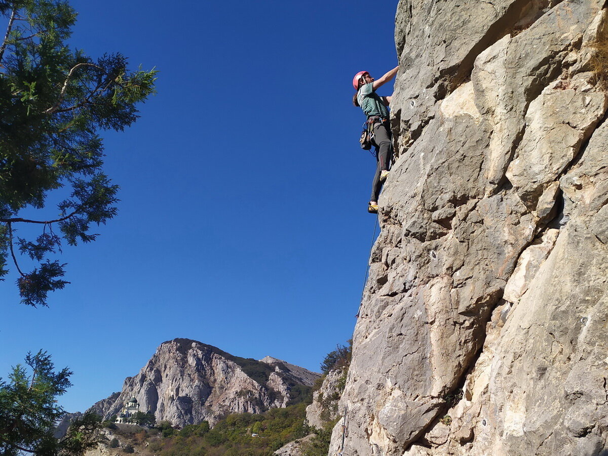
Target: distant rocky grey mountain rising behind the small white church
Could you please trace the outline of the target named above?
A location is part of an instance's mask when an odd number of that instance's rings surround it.
[[[264,359],[238,358],[212,345],[174,339],[161,344],[139,374],[125,379],[122,392],[89,410],[109,418],[135,397],[140,410],[153,412],[157,421],[178,427],[204,420],[214,424],[227,413],[285,407],[295,386],[312,386],[320,376],[280,359]]]

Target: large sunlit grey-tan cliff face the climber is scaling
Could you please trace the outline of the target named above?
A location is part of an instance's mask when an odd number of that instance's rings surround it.
[[[604,0],[399,2],[345,455],[605,454],[607,29]]]

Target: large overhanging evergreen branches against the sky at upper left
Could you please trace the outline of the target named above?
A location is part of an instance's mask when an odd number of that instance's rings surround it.
[[[98,131],[122,131],[137,119],[136,105],[154,93],[156,70],[130,71],[120,53],[93,59],[69,49],[77,15],[66,0],[0,0],[0,16],[7,24],[0,47],[0,280],[10,260],[21,302],[46,305],[49,291],[69,283],[65,264],[48,256],[60,253],[62,242],[95,240],[92,225],[117,211],[118,186],[103,172]],[[63,199],[55,196],[57,211],[46,215],[51,194]]]

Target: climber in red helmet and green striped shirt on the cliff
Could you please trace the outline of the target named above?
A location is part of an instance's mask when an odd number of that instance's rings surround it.
[[[376,89],[389,82],[395,77],[399,67],[395,67],[384,76],[375,80],[367,71],[360,71],[353,78],[353,87],[357,91],[353,96],[354,106],[361,106],[367,116],[368,129],[371,132],[371,144],[376,149],[376,174],[371,183],[370,203],[367,211],[372,214],[378,213],[378,196],[382,183],[389,175],[390,165],[390,141],[392,134],[389,123],[389,106],[392,96],[380,97]]]

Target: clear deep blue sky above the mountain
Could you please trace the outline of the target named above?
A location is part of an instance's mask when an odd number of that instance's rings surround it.
[[[176,337],[319,370],[353,332],[375,224],[351,80],[396,66],[397,1],[71,4],[73,46],[156,67],[158,94],[103,134],[119,215],[64,248],[72,283],[31,308],[0,282],[0,376],[47,350],[72,412]]]

